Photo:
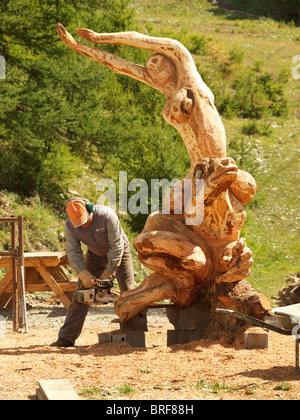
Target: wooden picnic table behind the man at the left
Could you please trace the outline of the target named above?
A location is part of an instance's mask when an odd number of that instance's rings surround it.
[[[65,252],[25,252],[25,291],[53,291],[67,309],[77,288],[77,281],[70,280],[63,270],[63,266],[67,265],[69,262]],[[4,267],[8,271],[0,281],[0,308],[7,305],[13,291],[11,258],[0,258],[0,268]]]

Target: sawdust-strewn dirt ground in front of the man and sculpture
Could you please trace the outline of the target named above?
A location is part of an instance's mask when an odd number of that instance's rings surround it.
[[[0,400],[36,399],[40,379],[69,379],[83,399],[300,399],[292,337],[270,332],[264,350],[224,340],[167,347],[173,327],[164,309],[151,309],[146,348],[100,345],[98,333],[118,329],[108,305],[91,308],[76,347],[49,347],[65,313],[62,306],[35,304],[27,334],[14,333],[8,318],[0,338]]]

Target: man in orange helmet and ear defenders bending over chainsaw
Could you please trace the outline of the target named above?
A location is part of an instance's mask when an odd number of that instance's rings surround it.
[[[92,288],[96,279],[117,279],[120,291],[135,288],[129,240],[114,210],[93,206],[83,198],[66,203],[66,252],[73,270],[78,273],[78,288]],[[81,243],[88,248],[84,259]],[[79,337],[89,305],[78,302],[76,294],[68,308],[56,347],[73,346]]]

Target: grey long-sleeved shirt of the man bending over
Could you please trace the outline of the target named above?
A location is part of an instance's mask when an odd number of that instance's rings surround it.
[[[106,269],[115,273],[121,263],[124,245],[128,243],[119,218],[107,206],[95,205],[93,219],[88,227],[74,228],[70,220],[65,223],[66,252],[73,270],[86,270],[81,242],[94,254],[107,258]]]

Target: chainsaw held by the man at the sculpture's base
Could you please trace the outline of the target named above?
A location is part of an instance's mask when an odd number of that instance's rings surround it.
[[[112,287],[112,280],[95,280],[94,287],[91,289],[84,289],[81,285],[76,293],[76,299],[88,305],[105,305],[111,302]]]

